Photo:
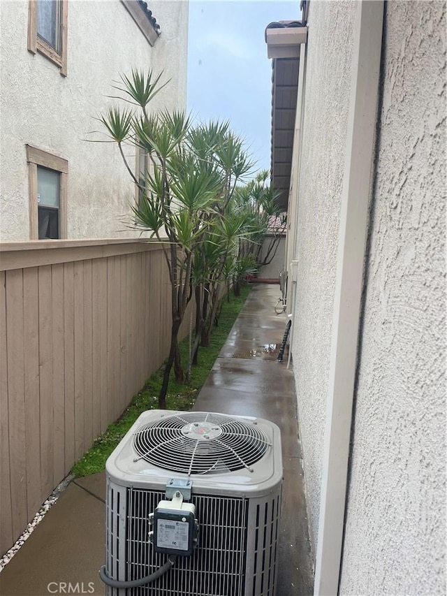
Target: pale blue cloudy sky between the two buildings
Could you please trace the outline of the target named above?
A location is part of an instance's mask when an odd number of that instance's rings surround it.
[[[272,61],[265,27],[300,19],[300,1],[190,0],[187,110],[229,120],[259,169],[270,170]]]

